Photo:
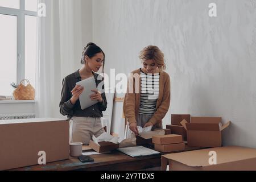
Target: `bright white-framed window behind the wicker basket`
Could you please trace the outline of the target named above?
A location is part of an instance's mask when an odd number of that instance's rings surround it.
[[[28,79],[35,87],[36,0],[0,0],[0,95],[11,96],[11,82]]]

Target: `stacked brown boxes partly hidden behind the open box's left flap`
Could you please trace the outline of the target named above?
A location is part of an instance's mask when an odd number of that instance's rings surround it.
[[[171,125],[166,125],[166,128],[171,129],[172,134],[181,135],[182,139],[187,141],[187,131],[180,123],[183,119],[190,123],[190,114],[172,114]]]

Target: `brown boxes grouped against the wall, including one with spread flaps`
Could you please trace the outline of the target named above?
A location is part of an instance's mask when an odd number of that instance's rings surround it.
[[[222,125],[221,117],[191,117],[190,114],[172,114],[172,134],[182,135],[191,147],[221,147],[222,130],[230,125],[230,121]]]

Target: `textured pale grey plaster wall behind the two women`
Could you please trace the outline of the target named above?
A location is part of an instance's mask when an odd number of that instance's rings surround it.
[[[211,2],[216,18],[208,16]],[[164,124],[170,113],[220,116],[233,122],[225,145],[256,147],[255,1],[94,0],[92,22],[106,73],[140,67],[139,51],[148,44],[165,53],[171,107]],[[115,109],[113,118],[121,118],[122,107]]]

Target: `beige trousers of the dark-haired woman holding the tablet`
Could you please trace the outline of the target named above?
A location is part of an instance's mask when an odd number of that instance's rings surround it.
[[[105,130],[102,128],[100,118],[72,117],[69,127],[69,142],[82,142],[89,144],[92,135],[100,136]]]

